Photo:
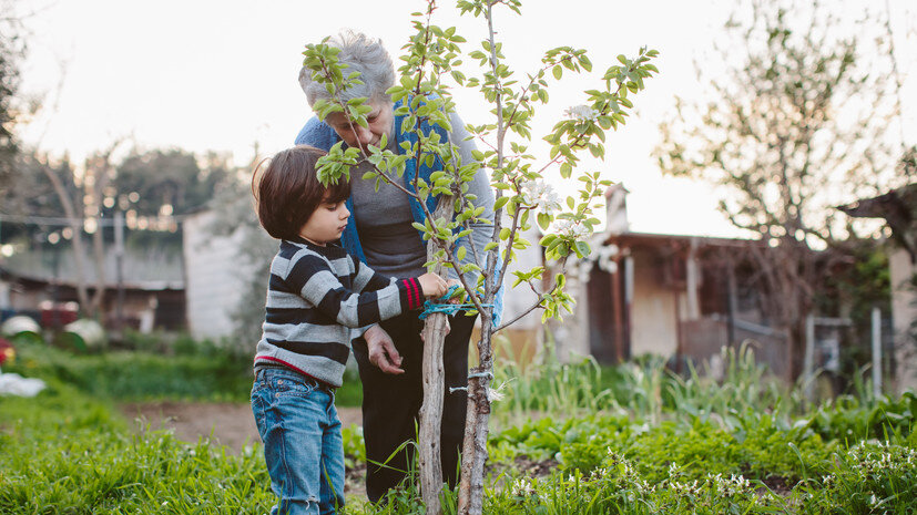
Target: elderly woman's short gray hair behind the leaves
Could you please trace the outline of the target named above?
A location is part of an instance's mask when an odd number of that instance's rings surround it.
[[[395,65],[383,47],[381,40],[368,38],[360,32],[346,31],[328,40],[328,45],[340,49],[337,54],[342,63],[347,64],[344,75],[359,72],[357,84],[340,92],[342,99],[347,102],[351,99],[367,97],[375,101],[391,103],[386,90],[395,84]],[[313,80],[312,71],[306,66],[299,70],[299,85],[306,92],[306,100],[314,105],[318,99],[332,100],[332,95],[320,82]]]

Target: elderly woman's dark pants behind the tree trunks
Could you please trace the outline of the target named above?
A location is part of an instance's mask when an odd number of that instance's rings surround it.
[[[446,391],[442,403],[441,459],[442,477],[449,486],[458,483],[459,451],[465,434],[468,399],[463,390],[449,393],[449,388],[468,385],[468,340],[476,318],[463,315],[449,317],[451,330],[446,337],[442,351]],[[424,342],[420,341],[424,321],[417,318],[417,312],[408,312],[386,320],[380,326],[401,354],[405,373],[384,373],[369,362],[366,342],[361,339],[354,342],[354,356],[363,381],[366,495],[374,503],[404,480],[408,463],[414,461],[415,449],[410,445],[394,456],[391,454],[406,441],[417,440],[418,413],[424,400]]]

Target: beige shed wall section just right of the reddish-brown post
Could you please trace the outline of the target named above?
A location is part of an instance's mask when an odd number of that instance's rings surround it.
[[[677,343],[677,296],[663,284],[652,251],[634,249],[633,264],[631,356],[673,356]]]

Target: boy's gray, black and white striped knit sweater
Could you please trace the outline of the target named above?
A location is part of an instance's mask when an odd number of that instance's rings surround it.
[[[367,326],[422,305],[416,277],[376,274],[334,244],[282,240],[271,262],[255,369],[286,367],[340,387],[350,340]]]

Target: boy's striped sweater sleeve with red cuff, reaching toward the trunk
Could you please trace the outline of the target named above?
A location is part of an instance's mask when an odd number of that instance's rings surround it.
[[[291,265],[286,282],[322,313],[349,328],[387,320],[424,305],[420,281],[415,277],[358,293],[345,288],[324,259],[308,254]]]

